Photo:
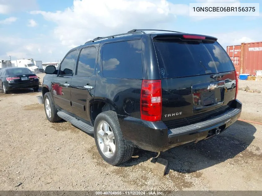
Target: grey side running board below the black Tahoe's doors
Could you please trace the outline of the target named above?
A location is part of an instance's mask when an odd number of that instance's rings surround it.
[[[94,133],[94,127],[92,127],[91,125],[84,123],[81,120],[76,119],[75,117],[63,112],[63,111],[58,111],[57,115],[70,122],[71,124],[75,125],[76,127],[80,128],[81,130],[87,132],[87,133]]]

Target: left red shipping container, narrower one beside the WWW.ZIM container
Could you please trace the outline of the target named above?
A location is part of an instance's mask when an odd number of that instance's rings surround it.
[[[240,58],[241,58],[241,45],[227,46],[227,53],[232,60],[234,67],[239,76],[240,74]]]

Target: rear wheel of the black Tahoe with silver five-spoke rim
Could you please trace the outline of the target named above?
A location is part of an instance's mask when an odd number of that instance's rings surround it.
[[[124,163],[133,155],[134,147],[124,140],[114,111],[105,111],[96,117],[94,137],[101,157],[111,165]]]

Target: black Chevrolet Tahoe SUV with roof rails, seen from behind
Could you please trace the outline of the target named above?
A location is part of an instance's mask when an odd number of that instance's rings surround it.
[[[112,165],[134,147],[160,152],[206,140],[241,114],[235,68],[215,37],[149,30],[97,37],[45,70],[47,119],[93,133]]]

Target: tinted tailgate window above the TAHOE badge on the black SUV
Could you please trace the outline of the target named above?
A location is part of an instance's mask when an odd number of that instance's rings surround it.
[[[161,78],[233,71],[231,59],[216,41],[153,39]]]

